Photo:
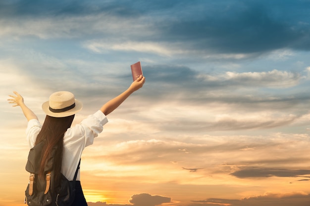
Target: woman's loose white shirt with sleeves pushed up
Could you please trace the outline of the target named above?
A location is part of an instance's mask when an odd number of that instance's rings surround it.
[[[99,110],[95,114],[88,116],[80,124],[67,129],[63,136],[61,173],[68,180],[73,180],[84,148],[94,143],[94,138],[103,131],[103,125],[107,122],[106,116]],[[42,124],[36,119],[28,122],[26,138],[30,148],[35,146],[41,128]],[[80,171],[76,180],[80,180]]]

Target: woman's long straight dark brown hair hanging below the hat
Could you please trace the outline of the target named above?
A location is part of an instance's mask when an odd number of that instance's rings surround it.
[[[63,135],[67,129],[70,128],[73,119],[74,115],[61,118],[55,118],[48,115],[46,116],[44,124],[42,125],[41,131],[35,142],[35,145],[42,141],[45,142],[42,150],[42,161],[39,169],[39,177],[44,177],[46,175],[44,166],[48,158],[50,158],[52,149],[56,146],[57,150],[53,157],[56,163],[54,164],[54,172],[55,179],[59,180],[62,163]]]

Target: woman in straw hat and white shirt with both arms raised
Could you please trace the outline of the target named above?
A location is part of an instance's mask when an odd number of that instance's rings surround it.
[[[28,125],[26,129],[27,141],[33,148],[41,141],[45,141],[40,174],[44,175],[44,165],[54,146],[61,148],[54,156],[59,164],[56,164],[55,173],[60,172],[70,181],[73,180],[82,152],[85,147],[93,144],[94,138],[103,131],[103,125],[107,123],[106,115],[114,111],[134,91],[140,89],[145,82],[142,75],[117,97],[103,104],[99,111],[84,119],[80,124],[71,127],[74,115],[82,109],[83,104],[74,98],[68,91],[55,92],[49,101],[43,103],[42,109],[47,114],[44,124],[39,123],[38,117],[24,103],[23,97],[14,91],[15,95],[9,95],[8,103],[13,107],[20,106]],[[61,164],[60,164],[61,163]],[[57,179],[57,175],[56,175]],[[87,206],[81,183],[80,172],[76,178],[76,197],[73,206]]]

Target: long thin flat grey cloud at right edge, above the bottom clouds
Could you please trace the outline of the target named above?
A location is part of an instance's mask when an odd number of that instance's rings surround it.
[[[309,175],[309,169],[283,169],[283,168],[244,168],[231,173],[238,178],[257,178],[257,177],[299,177],[301,175]]]

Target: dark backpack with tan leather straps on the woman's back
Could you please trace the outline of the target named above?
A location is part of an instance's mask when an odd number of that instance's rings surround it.
[[[25,191],[25,203],[28,206],[71,206],[75,198],[75,181],[80,163],[76,168],[74,179],[69,181],[60,174],[60,182],[54,182],[54,154],[57,148],[53,148],[44,167],[45,178],[39,178],[39,168],[42,159],[44,141],[35,145],[29,151],[26,170],[30,172],[29,183]]]

